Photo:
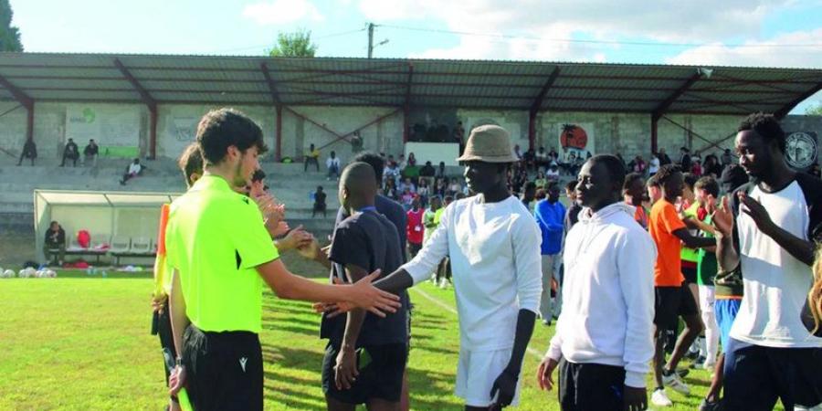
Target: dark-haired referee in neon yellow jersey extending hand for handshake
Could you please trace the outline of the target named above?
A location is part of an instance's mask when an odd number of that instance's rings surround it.
[[[210,111],[196,141],[204,175],[174,200],[165,231],[177,352],[170,391],[186,387],[196,410],[262,410],[263,282],[279,298],[344,302],[377,315],[400,303],[372,286],[379,272],[353,285],[326,285],[286,269],[258,205],[232,191],[267,150],[254,121],[232,109]]]

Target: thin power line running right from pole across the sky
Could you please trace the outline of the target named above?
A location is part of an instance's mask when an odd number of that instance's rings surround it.
[[[513,36],[498,33],[478,33],[470,31],[445,30],[438,28],[422,28],[411,26],[380,25],[384,27],[396,28],[400,30],[420,31],[427,33],[455,34],[461,36],[476,37],[496,37],[508,39],[525,39],[558,43],[582,43],[582,44],[602,44],[614,46],[646,46],[646,47],[822,47],[822,44],[704,44],[704,43],[670,43],[670,42],[650,42],[650,41],[620,41],[620,40],[585,40],[574,38],[550,38],[532,36]]]

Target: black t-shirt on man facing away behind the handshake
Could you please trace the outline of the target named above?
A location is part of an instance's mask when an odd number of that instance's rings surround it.
[[[391,274],[403,264],[403,248],[400,248],[396,228],[385,216],[375,211],[365,211],[344,219],[335,229],[329,259],[332,260],[333,277],[345,278],[345,265],[355,265],[373,272],[382,269],[381,278]],[[400,294],[402,308],[385,318],[369,312],[357,338],[357,346],[405,343],[408,339],[408,294]],[[344,315],[329,319],[322,316],[320,337],[333,344],[342,343],[345,332]]]

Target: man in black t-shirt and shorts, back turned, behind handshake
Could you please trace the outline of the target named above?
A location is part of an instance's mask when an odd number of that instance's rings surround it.
[[[334,227],[329,259],[332,276],[356,282],[369,272],[393,272],[403,253],[396,228],[377,212],[375,174],[366,163],[351,163],[342,171],[340,203],[348,217]],[[399,411],[408,355],[408,295],[403,306],[379,318],[364,310],[347,317],[323,315],[321,338],[329,340],[322,361],[322,390],[328,409],[353,411],[364,404],[371,411]]]

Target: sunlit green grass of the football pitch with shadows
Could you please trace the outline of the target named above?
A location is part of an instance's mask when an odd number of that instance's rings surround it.
[[[300,269],[321,274],[308,266]],[[149,334],[150,274],[58,276],[0,280],[0,409],[162,409],[162,356],[158,339]],[[453,290],[426,283],[411,291],[416,306],[408,363],[412,408],[461,409],[453,395],[457,316],[418,290],[454,307]],[[270,292],[264,304],[260,340],[266,408],[324,409],[320,367],[325,344],[317,337],[319,318],[308,303],[279,300]],[[532,348],[543,353],[552,334],[553,327],[538,324]],[[517,409],[559,409],[555,391],[544,393],[536,386],[538,363],[539,358],[527,354]],[[669,390],[676,404],[670,409],[696,409],[709,374],[692,371],[686,380],[694,394]]]

